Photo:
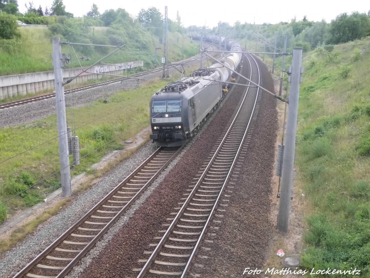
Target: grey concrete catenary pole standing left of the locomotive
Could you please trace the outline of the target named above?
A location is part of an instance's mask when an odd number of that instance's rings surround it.
[[[60,37],[53,37],[53,63],[55,79],[55,100],[57,103],[58,141],[60,175],[62,181],[62,194],[71,196],[71,172],[68,155],[67,120],[65,117],[65,101],[63,89],[63,62],[61,57]]]

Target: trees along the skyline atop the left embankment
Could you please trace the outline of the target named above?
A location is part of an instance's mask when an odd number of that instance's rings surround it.
[[[155,7],[147,10],[142,9],[137,17],[131,17],[124,9],[105,10],[100,13],[96,4],[92,4],[91,10],[81,18],[74,18],[74,15],[65,10],[63,0],[54,0],[51,6],[36,8],[33,2],[26,4],[27,11],[19,13],[17,0],[0,0],[0,23],[4,30],[0,31],[0,39],[13,39],[19,36],[17,24],[13,21],[20,20],[25,24],[45,24],[53,34],[61,34],[65,39],[75,40],[76,37],[85,37],[86,28],[91,26],[111,26],[119,30],[111,36],[111,42],[122,42],[128,36],[138,36],[137,27],[148,28],[149,33],[158,37],[164,36],[164,18]],[[177,12],[176,20],[168,20],[170,32],[183,30],[181,17]],[[80,30],[76,30],[80,28]],[[154,28],[153,28],[154,27]],[[122,29],[122,30],[121,30]],[[151,30],[153,29],[153,30]],[[112,32],[112,31],[111,31]],[[118,39],[118,38],[121,39]],[[138,44],[139,47],[140,44]]]

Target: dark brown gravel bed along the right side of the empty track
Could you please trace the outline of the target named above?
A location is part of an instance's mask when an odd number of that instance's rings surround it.
[[[264,84],[273,92],[273,81],[265,65],[260,63]],[[208,259],[196,258],[194,263],[204,268],[192,267],[191,272],[201,277],[241,277],[245,268],[264,269],[270,235],[269,223],[271,177],[274,166],[277,130],[276,100],[263,93],[259,114],[248,146],[243,167],[239,171],[229,206],[223,213],[219,229],[201,251]],[[265,275],[266,276],[266,275]]]

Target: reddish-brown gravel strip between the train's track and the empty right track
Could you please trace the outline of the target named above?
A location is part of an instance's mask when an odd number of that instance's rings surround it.
[[[243,75],[246,75],[247,67],[243,67],[243,70]],[[238,79],[237,82],[240,83],[243,80]],[[235,111],[243,90],[244,88],[237,86],[233,88],[222,109],[219,109],[211,122],[206,123],[208,126],[203,127],[191,148],[186,151],[134,216],[96,258],[94,258],[96,254],[85,257],[68,277],[77,277],[78,271],[82,271],[91,260],[91,264],[79,277],[133,277],[135,275],[131,272],[132,268],[142,267],[138,259],[145,257],[144,251],[154,249],[154,247],[149,249],[149,244],[153,243],[153,238],[158,236],[159,230],[166,229],[162,224],[166,223],[166,218],[171,217],[173,208],[178,206],[180,198],[184,197],[182,194],[187,192],[188,185],[191,185],[204,159],[215,146],[216,140],[219,139],[220,133]]]

